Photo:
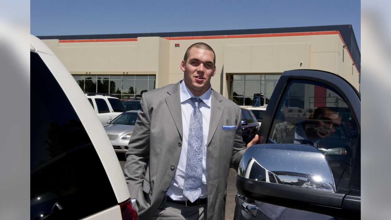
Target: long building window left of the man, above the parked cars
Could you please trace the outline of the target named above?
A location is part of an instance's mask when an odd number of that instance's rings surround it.
[[[98,92],[117,95],[118,98],[141,97],[155,88],[154,75],[74,75],[84,93]]]

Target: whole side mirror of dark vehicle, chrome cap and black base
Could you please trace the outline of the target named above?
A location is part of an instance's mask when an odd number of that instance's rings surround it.
[[[236,186],[247,198],[341,218],[359,218],[361,202],[336,190],[325,155],[306,144],[257,144],[246,150]],[[358,213],[358,215],[357,215]]]

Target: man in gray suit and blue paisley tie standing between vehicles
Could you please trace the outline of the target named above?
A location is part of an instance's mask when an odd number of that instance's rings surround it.
[[[229,168],[246,150],[239,106],[210,85],[213,49],[191,45],[181,70],[179,83],[143,94],[129,140],[125,179],[140,220],[224,219]]]

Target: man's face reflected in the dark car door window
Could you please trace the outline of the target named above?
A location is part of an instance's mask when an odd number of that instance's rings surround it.
[[[341,126],[341,117],[335,112],[326,110],[323,112],[322,117],[317,119],[315,132],[317,137],[322,139],[334,133],[339,126]]]

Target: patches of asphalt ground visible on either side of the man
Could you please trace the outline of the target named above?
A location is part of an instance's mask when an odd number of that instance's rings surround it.
[[[117,153],[118,160],[121,164],[122,171],[124,170],[125,165],[125,154]],[[233,213],[235,211],[235,195],[237,193],[236,189],[236,176],[237,173],[234,169],[230,169],[230,174],[228,175],[228,184],[227,184],[227,202],[225,204],[225,219],[233,219]]]

